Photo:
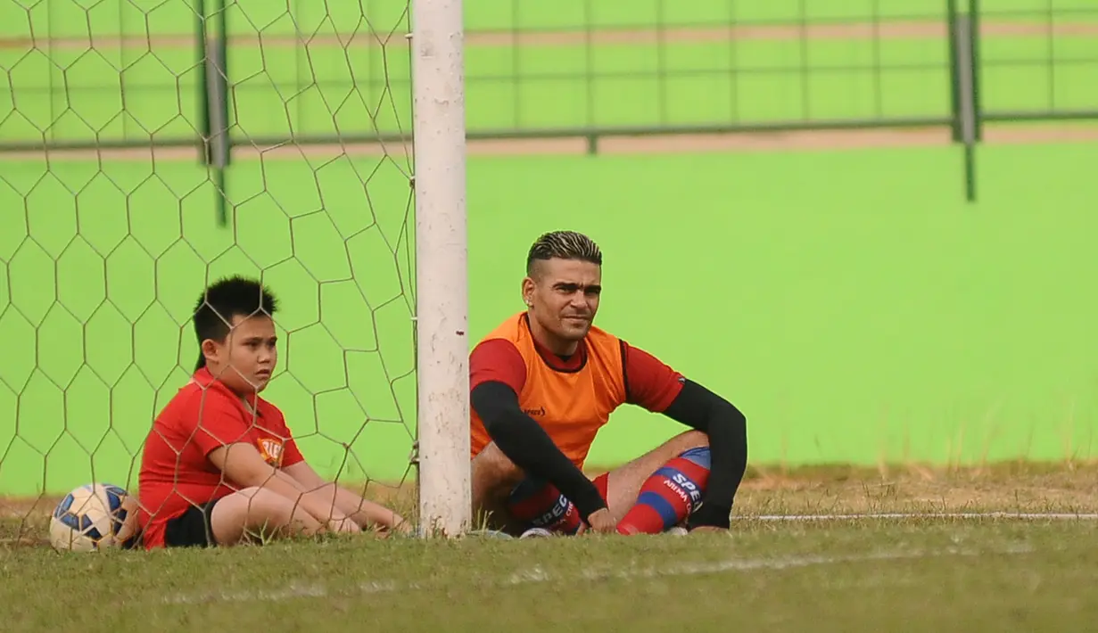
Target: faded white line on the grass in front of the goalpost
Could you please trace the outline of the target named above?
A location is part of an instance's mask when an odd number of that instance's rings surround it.
[[[1027,545],[1008,546],[998,550],[961,550],[946,547],[942,550],[910,550],[875,552],[865,554],[848,554],[840,556],[787,556],[782,558],[729,558],[713,563],[690,563],[669,565],[664,567],[629,567],[605,572],[583,572],[580,574],[552,574],[535,565],[529,570],[516,572],[498,580],[479,583],[485,588],[513,587],[540,583],[575,583],[597,581],[607,579],[636,580],[651,578],[670,578],[679,576],[701,576],[728,572],[750,572],[755,569],[795,569],[820,565],[838,565],[843,563],[870,563],[881,561],[911,561],[939,557],[982,557],[996,555],[1029,554],[1033,550]],[[432,588],[445,588],[439,583],[401,583],[396,580],[372,580],[357,586],[328,588],[324,585],[289,585],[279,589],[250,591],[211,591],[203,594],[183,594],[164,599],[168,604],[199,603],[240,603],[240,602],[277,602],[293,598],[326,598],[335,596],[362,596],[372,594],[391,594]]]

